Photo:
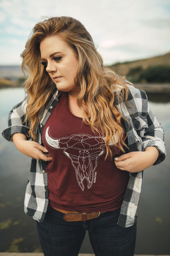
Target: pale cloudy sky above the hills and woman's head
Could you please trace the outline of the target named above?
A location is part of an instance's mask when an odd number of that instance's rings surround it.
[[[170,51],[170,0],[0,0],[0,65],[20,65],[33,26],[54,16],[80,20],[105,65]]]

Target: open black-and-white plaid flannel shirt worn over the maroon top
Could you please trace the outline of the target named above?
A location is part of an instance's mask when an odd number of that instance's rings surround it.
[[[120,87],[119,90],[115,91],[115,95],[118,95],[120,90],[123,89]],[[55,91],[48,106],[42,110],[40,124],[35,130],[37,142],[41,145],[43,145],[43,127],[58,102],[57,93]],[[128,102],[124,104],[118,99],[116,97],[117,108],[127,120],[124,124],[128,135],[129,151],[143,151],[147,147],[155,146],[159,150],[159,157],[155,164],[161,163],[166,154],[164,132],[148,107],[146,93],[129,86]],[[8,141],[12,141],[14,133],[28,134],[29,127],[24,123],[26,106],[26,101],[23,101],[11,110],[8,118],[9,127],[2,132],[4,138]],[[47,163],[45,161],[32,159],[25,192],[24,211],[38,221],[44,220],[48,206],[46,167]],[[122,227],[130,227],[135,222],[141,193],[142,173],[130,173],[118,220],[118,225]]]

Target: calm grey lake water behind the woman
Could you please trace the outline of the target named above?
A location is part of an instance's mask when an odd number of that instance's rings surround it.
[[[7,127],[11,108],[24,98],[23,89],[0,90],[0,127]],[[138,212],[136,254],[169,254],[170,99],[148,94],[149,105],[165,130],[166,160],[145,170]],[[0,136],[0,251],[40,252],[35,221],[23,212],[30,159]],[[81,253],[92,253],[88,235]]]

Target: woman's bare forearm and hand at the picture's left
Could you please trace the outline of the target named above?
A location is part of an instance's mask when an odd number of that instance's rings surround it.
[[[36,141],[27,140],[24,134],[15,133],[12,139],[15,147],[24,155],[35,159],[42,159],[46,162],[52,161],[52,157],[50,157],[45,147],[41,146]]]

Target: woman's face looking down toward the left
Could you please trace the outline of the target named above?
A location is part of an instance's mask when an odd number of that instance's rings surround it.
[[[46,37],[40,43],[41,63],[58,90],[78,95],[80,86],[75,84],[78,59],[72,48],[60,35]]]

